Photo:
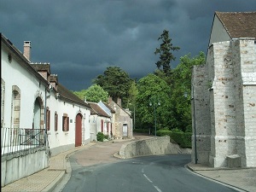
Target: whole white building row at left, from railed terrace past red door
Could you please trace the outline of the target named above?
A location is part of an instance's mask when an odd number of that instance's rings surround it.
[[[49,155],[90,143],[90,106],[59,84],[49,63],[32,63],[30,49],[24,42],[22,54],[1,34],[2,186],[46,168]]]

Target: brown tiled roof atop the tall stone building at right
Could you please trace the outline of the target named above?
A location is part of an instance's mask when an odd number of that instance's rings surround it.
[[[218,12],[230,38],[256,38],[256,12]]]

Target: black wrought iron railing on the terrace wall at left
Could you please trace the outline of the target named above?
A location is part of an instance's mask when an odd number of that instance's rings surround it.
[[[43,129],[1,128],[1,155],[15,154],[45,146]]]

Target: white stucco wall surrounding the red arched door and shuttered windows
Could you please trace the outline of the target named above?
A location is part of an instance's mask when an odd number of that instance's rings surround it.
[[[50,110],[50,129],[47,131],[51,155],[59,154],[68,149],[75,148],[76,116],[82,114],[82,145],[90,143],[90,109],[55,99],[54,92],[50,92],[47,99]],[[55,112],[58,114],[58,129],[55,131]],[[62,116],[67,113],[69,117],[69,131],[62,131]],[[84,116],[85,114],[85,116]],[[85,118],[84,118],[85,117]]]

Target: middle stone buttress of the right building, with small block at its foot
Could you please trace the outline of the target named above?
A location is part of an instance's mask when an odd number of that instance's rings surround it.
[[[230,42],[212,46],[214,78],[212,81],[212,153],[211,166],[227,166],[226,155],[236,154],[236,100]],[[214,148],[214,149],[213,149]]]

